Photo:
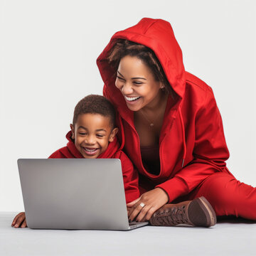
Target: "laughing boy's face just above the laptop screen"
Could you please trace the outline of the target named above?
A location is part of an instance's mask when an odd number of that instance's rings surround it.
[[[95,159],[113,142],[118,128],[112,129],[110,117],[101,114],[79,114],[75,125],[70,124],[75,147],[83,157]]]

